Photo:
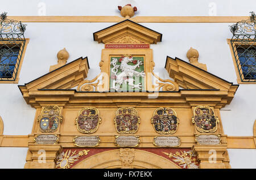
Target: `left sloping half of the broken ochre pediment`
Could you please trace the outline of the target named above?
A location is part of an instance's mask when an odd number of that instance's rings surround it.
[[[88,58],[80,57],[29,83],[18,85],[18,87],[23,93],[23,96],[24,93],[38,91],[39,89],[71,89],[79,85],[87,77],[88,70]]]

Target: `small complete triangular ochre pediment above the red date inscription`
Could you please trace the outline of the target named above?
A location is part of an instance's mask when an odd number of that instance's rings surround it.
[[[148,43],[162,41],[162,34],[131,20],[124,20],[93,33],[94,41],[108,43]],[[134,41],[134,42],[123,42]]]

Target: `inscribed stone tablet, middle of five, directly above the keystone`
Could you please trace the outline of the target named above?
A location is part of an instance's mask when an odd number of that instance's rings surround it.
[[[120,147],[136,147],[141,141],[139,136],[115,136],[115,145]]]

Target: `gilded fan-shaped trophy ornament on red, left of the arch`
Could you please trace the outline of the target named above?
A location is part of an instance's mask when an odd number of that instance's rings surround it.
[[[60,153],[60,155],[57,156],[56,168],[69,169],[81,156],[88,155],[89,151],[90,150],[83,150],[76,153],[76,151],[72,152],[71,149],[69,149],[65,153]]]

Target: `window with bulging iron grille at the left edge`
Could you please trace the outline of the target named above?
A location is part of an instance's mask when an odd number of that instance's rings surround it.
[[[0,83],[15,81],[20,68],[26,39],[26,24],[7,19],[7,13],[0,15]]]

